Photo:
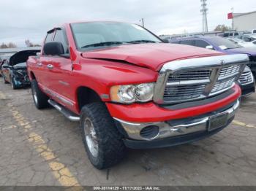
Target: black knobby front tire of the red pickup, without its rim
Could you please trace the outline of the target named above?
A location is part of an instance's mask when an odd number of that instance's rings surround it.
[[[98,142],[97,157],[91,154],[86,143],[86,118],[89,118],[94,125]],[[87,155],[94,167],[98,169],[108,168],[124,158],[126,147],[122,141],[123,136],[118,132],[113,118],[104,103],[95,102],[83,106],[80,113],[80,129]]]

